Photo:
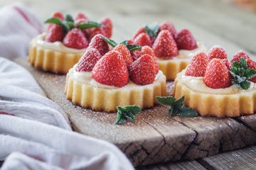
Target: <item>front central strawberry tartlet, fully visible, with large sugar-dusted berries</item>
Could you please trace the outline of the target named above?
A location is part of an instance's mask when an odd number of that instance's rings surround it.
[[[102,44],[97,47],[106,46],[100,35],[96,36]],[[114,112],[117,106],[149,108],[157,103],[156,96],[166,96],[166,77],[151,52],[133,61],[125,45],[117,45],[102,56],[97,47],[88,47],[67,74],[65,94],[75,105]]]

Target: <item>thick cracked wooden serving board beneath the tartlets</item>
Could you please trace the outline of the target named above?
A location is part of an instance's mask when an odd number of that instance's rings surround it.
[[[170,118],[168,108],[154,106],[136,115],[136,123],[115,125],[116,113],[94,112],[68,101],[65,75],[34,69],[26,58],[16,62],[28,69],[46,96],[63,108],[75,131],[112,142],[134,166],[198,159],[256,144],[256,115]],[[167,85],[170,94],[173,82]]]

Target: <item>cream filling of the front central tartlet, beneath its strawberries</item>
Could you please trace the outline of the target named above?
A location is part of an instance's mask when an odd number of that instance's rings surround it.
[[[116,86],[109,86],[105,84],[100,84],[99,82],[95,81],[92,79],[92,72],[77,72],[75,71],[77,64],[74,65],[72,69],[70,69],[69,74],[70,78],[76,81],[82,81],[86,84],[90,84],[92,86],[97,86],[100,88],[105,88],[105,89],[119,89],[119,87]],[[138,84],[134,84],[133,81],[129,80],[128,84],[125,86],[122,86],[122,89],[133,89],[134,87],[137,88],[151,88],[151,86],[154,86],[155,84],[158,84],[161,80],[165,79],[165,76],[163,72],[159,70],[158,74],[156,74],[155,80],[153,84],[146,84],[144,86],[140,86]]]

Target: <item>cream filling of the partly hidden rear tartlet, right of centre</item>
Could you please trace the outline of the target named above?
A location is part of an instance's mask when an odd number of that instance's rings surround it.
[[[193,55],[195,55],[197,52],[206,52],[206,46],[203,45],[203,42],[197,42],[198,47],[194,50],[178,50],[178,55],[176,57],[172,57],[170,59],[164,59],[164,58],[157,58],[159,61],[164,60],[184,60],[184,59],[191,59]]]

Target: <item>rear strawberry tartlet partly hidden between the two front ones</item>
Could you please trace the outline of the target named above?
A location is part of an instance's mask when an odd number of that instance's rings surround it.
[[[133,40],[134,44],[152,47],[159,69],[167,80],[174,80],[196,52],[206,52],[203,42],[196,42],[189,30],[183,29],[177,33],[174,24],[169,21],[140,28]]]

